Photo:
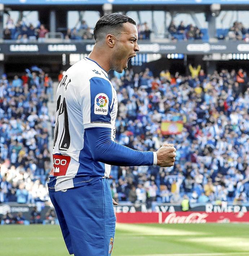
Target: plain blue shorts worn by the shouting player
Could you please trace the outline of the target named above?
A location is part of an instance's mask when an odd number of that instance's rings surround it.
[[[109,256],[116,217],[107,179],[86,186],[49,191],[69,254]]]

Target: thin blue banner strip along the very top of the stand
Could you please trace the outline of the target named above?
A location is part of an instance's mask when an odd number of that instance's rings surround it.
[[[0,4],[5,5],[48,5],[48,4],[55,4],[55,5],[73,5],[73,4],[213,4],[214,0],[126,0],[125,3],[123,0],[0,0]],[[216,4],[247,4],[249,5],[249,0],[215,0]]]

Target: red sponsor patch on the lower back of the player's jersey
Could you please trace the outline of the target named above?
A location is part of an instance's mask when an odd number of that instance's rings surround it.
[[[53,168],[51,169],[50,174],[53,176],[66,175],[70,161],[70,156],[53,155]]]

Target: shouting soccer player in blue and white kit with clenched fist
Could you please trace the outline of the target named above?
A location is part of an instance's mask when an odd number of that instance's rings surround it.
[[[48,188],[70,254],[112,253],[115,214],[108,177],[110,165],[174,165],[176,149],[136,151],[116,143],[117,93],[108,71],[122,72],[139,51],[136,23],[108,14],[94,29],[88,58],[70,67],[58,85],[53,168]]]

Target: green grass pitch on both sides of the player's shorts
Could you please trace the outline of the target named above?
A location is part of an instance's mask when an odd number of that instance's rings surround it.
[[[0,226],[1,256],[69,255],[57,225]],[[112,256],[249,256],[249,225],[117,224]]]

